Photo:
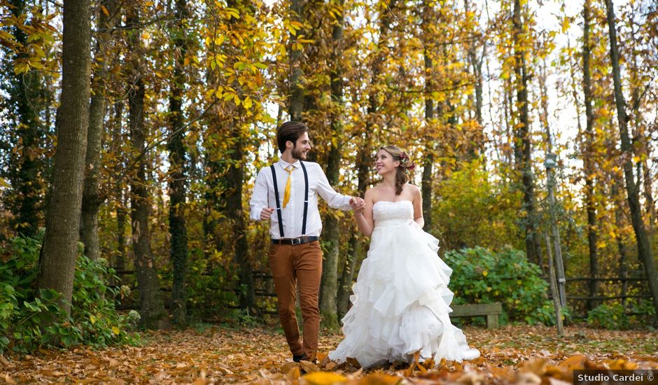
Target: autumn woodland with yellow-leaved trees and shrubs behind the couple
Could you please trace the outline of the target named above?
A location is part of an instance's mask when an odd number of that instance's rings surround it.
[[[456,302],[554,322],[559,235],[568,320],[657,322],[650,0],[0,0],[0,18],[3,349],[273,309],[248,200],[288,119],[345,194],[377,183],[379,146],[407,149]],[[337,328],[367,239],[321,212]]]

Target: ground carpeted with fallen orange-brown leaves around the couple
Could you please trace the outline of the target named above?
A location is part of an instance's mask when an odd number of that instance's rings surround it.
[[[0,356],[0,382],[105,384],[564,384],[578,368],[658,369],[658,332],[608,331],[570,326],[508,325],[463,328],[482,357],[464,365],[442,362],[361,370],[325,359],[339,335],[324,333],[318,363],[291,362],[274,328],[216,326],[144,336],[144,346],[42,350],[32,356]],[[305,374],[304,374],[305,372]],[[401,382],[400,382],[401,381]]]

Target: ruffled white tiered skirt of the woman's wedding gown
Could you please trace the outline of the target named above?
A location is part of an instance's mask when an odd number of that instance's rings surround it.
[[[345,338],[329,358],[356,358],[362,367],[386,362],[472,360],[463,332],[450,322],[452,269],[438,256],[438,240],[414,222],[377,225],[360,267],[352,307],[342,319]]]

